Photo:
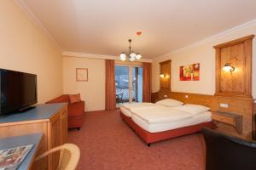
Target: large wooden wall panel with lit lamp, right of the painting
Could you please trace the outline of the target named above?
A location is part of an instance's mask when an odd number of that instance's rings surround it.
[[[252,36],[214,46],[216,49],[216,95],[252,98]],[[226,63],[232,73],[222,70]]]

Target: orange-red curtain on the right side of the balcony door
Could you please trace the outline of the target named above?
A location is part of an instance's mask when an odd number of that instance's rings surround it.
[[[143,63],[143,102],[151,101],[151,63]]]

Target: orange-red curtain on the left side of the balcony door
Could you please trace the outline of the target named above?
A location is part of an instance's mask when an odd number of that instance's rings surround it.
[[[106,97],[105,110],[111,111],[116,108],[115,82],[114,82],[114,60],[106,59]]]

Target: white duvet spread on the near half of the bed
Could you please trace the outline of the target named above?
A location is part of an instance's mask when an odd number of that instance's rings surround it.
[[[132,116],[138,116],[148,123],[177,122],[193,117],[189,113],[174,111],[172,108],[168,107],[133,110],[131,117]]]

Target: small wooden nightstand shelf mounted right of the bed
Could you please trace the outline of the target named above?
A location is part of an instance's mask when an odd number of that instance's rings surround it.
[[[217,122],[224,122],[236,128],[239,134],[242,133],[242,116],[234,113],[227,113],[221,111],[212,111],[212,120]]]

